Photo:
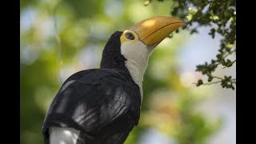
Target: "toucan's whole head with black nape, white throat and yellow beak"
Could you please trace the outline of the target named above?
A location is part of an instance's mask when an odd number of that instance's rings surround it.
[[[138,79],[135,82],[142,81],[151,51],[184,25],[185,22],[177,18],[158,16],[138,22],[129,30],[115,32],[103,50],[101,67],[126,66],[133,79]]]

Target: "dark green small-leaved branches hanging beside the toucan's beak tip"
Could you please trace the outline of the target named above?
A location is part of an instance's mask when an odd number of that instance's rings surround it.
[[[147,5],[151,1],[146,1]],[[159,0],[158,0],[159,2]],[[161,1],[162,2],[162,1]],[[230,68],[234,62],[227,57],[236,51],[236,2],[234,0],[173,0],[174,5],[171,7],[170,15],[181,18],[187,23],[183,29],[190,30],[190,34],[198,33],[201,26],[211,26],[209,35],[215,38],[216,34],[221,35],[221,43],[218,54],[210,63],[198,65],[196,71],[208,77],[208,83],[198,80],[197,86],[220,83],[222,87],[234,90],[236,78],[230,76],[219,78],[212,73],[218,66]],[[176,31],[178,32],[178,30]],[[214,78],[220,81],[212,82]]]

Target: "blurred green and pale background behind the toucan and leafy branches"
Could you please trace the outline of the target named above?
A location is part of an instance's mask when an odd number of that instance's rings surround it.
[[[98,68],[116,30],[153,16],[170,16],[172,1],[22,0],[20,9],[21,143],[43,143],[42,122],[62,82],[79,70]],[[150,56],[144,75],[142,113],[126,144],[236,143],[235,90],[195,86],[196,66],[218,52],[210,27],[166,38]],[[219,67],[216,75],[235,66]]]

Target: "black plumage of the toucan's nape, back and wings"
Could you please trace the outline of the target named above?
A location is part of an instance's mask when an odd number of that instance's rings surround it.
[[[121,144],[138,125],[141,95],[121,54],[121,34],[106,43],[100,69],[79,71],[63,83],[43,123],[45,143],[50,126],[80,130],[77,143]]]

